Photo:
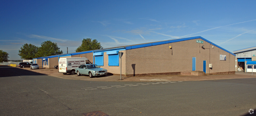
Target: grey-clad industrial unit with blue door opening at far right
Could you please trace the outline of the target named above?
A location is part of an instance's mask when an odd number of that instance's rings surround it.
[[[256,46],[235,50],[233,53],[236,55],[236,71],[256,72]]]

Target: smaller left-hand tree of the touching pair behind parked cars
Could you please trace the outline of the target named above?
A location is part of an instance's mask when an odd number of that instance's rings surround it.
[[[35,58],[38,47],[32,44],[24,44],[19,50],[18,55],[21,56],[22,59],[32,60]]]

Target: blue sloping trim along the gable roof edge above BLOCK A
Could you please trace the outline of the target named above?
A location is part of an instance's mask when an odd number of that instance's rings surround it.
[[[229,54],[232,54],[235,56],[235,54],[233,54],[232,52],[229,52],[228,50],[202,38],[201,36],[197,36],[197,37],[190,37],[190,38],[182,38],[182,39],[174,39],[174,40],[167,40],[167,41],[159,41],[159,42],[153,42],[153,43],[145,43],[145,44],[139,44],[139,45],[131,45],[131,46],[126,46],[126,50],[128,49],[136,49],[136,48],[142,48],[142,47],[149,47],[149,46],[156,46],[156,45],[161,45],[161,44],[168,44],[168,43],[174,43],[174,42],[179,42],[179,41],[186,41],[186,40],[192,40],[192,39],[202,39],[226,52],[228,52]]]

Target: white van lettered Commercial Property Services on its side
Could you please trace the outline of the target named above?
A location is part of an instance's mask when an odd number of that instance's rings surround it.
[[[75,68],[78,68],[82,64],[89,63],[86,57],[68,57],[59,59],[59,73],[71,75],[75,74]]]

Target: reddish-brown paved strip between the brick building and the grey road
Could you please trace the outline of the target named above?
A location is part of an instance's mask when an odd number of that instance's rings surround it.
[[[30,68],[23,68],[26,70],[30,70]],[[50,75],[58,78],[64,79],[77,79],[77,80],[86,80],[86,81],[203,81],[203,80],[214,80],[214,79],[232,79],[232,78],[255,78],[256,73],[252,75],[251,72],[236,72],[236,74],[227,74],[227,75],[205,75],[205,76],[191,76],[191,75],[157,75],[157,76],[132,76],[125,77],[119,74],[112,74],[108,72],[108,74],[103,76],[97,76],[94,78],[90,78],[88,75],[71,75],[58,72],[58,69],[55,68],[41,68],[37,70],[31,70],[34,72],[38,72],[45,75]]]

